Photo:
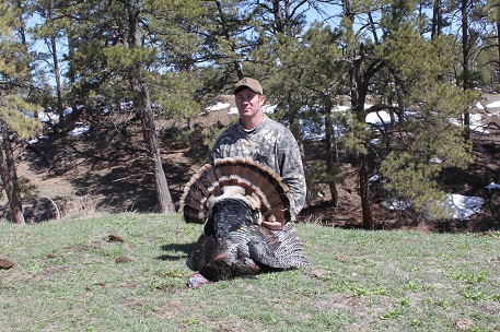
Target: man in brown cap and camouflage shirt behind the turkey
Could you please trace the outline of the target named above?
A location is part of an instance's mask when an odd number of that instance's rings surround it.
[[[240,121],[217,139],[212,162],[226,157],[251,157],[281,176],[294,200],[292,213],[298,214],[305,202],[305,177],[299,145],[283,124],[269,119],[263,111],[266,100],[257,80],[245,78],[234,87]],[[279,222],[265,221],[264,226],[281,229]]]

